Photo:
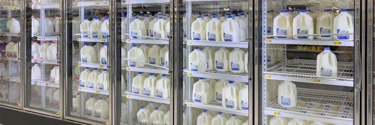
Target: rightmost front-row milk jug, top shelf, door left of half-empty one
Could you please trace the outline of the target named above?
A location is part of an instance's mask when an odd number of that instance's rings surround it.
[[[240,41],[240,25],[237,21],[232,19],[232,16],[228,16],[221,24],[221,39],[228,42],[239,42]]]

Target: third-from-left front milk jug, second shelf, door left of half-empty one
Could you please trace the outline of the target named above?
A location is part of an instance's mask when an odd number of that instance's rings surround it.
[[[229,70],[234,73],[245,72],[245,62],[244,62],[245,51],[236,47],[233,51],[229,53]]]

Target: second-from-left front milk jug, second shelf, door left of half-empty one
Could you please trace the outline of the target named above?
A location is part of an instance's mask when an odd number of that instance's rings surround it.
[[[225,47],[220,47],[219,50],[215,52],[214,60],[215,60],[215,69],[221,72],[229,71],[229,53],[230,51]]]

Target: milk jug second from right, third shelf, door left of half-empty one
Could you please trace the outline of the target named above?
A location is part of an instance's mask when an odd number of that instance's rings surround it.
[[[222,105],[226,108],[238,109],[238,94],[240,88],[229,81],[229,84],[223,88],[223,101]]]

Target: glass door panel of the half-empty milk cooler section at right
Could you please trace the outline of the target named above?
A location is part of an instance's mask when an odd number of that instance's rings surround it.
[[[353,1],[261,6],[262,125],[353,125]]]

